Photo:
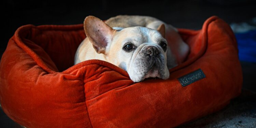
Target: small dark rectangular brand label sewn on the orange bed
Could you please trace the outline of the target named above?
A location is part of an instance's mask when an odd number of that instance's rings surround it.
[[[190,72],[184,76],[179,77],[178,80],[181,83],[182,87],[185,87],[189,84],[192,84],[204,78],[205,78],[205,75],[203,71],[201,69],[198,69],[194,72]]]

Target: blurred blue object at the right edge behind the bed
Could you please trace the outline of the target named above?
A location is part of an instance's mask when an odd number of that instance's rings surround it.
[[[239,60],[256,62],[256,30],[235,33],[239,49]]]

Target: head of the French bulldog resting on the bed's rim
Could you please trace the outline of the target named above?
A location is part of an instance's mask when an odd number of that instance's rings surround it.
[[[132,81],[140,82],[147,77],[169,78],[167,54],[170,49],[164,38],[165,25],[157,30],[145,27],[113,29],[99,18],[88,16],[84,29],[96,52],[126,70]]]

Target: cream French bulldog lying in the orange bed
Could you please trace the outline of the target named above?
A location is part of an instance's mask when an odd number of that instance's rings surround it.
[[[104,60],[127,71],[133,82],[168,79],[169,69],[189,52],[176,28],[150,16],[119,15],[105,22],[87,16],[84,30],[87,38],[79,45],[74,64]]]

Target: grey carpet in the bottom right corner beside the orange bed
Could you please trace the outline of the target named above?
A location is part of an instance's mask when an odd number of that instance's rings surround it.
[[[179,128],[256,128],[256,93],[243,89],[241,95],[221,111]]]

